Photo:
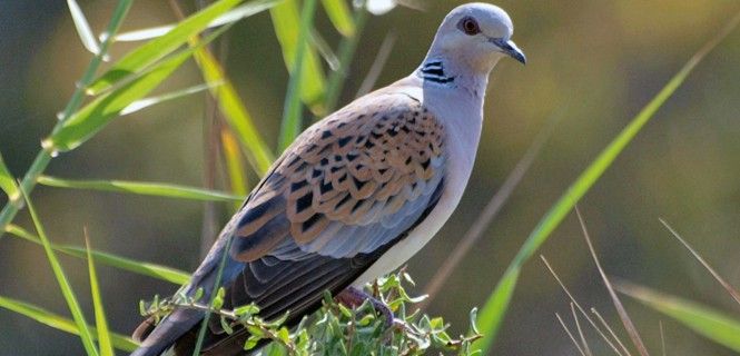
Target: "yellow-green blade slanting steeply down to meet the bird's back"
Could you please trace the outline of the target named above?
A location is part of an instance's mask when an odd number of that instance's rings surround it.
[[[239,99],[234,85],[226,77],[224,69],[216,58],[206,49],[198,49],[195,53],[196,62],[203,72],[206,82],[221,82],[223,85],[210,90],[224,113],[226,122],[239,139],[244,154],[255,171],[265,175],[275,160],[275,156],[265,144],[259,130],[254,125],[251,116]]]

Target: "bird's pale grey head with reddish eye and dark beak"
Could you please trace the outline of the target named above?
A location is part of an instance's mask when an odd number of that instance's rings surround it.
[[[487,73],[503,57],[526,63],[524,52],[511,40],[509,14],[490,3],[467,3],[452,10],[437,30],[430,56],[443,56]]]

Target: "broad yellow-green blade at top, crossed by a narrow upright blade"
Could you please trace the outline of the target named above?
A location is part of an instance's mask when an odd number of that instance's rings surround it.
[[[285,0],[270,9],[269,13],[273,18],[275,34],[277,34],[283,49],[285,66],[292,75],[295,75],[295,59],[298,51],[298,37],[300,37],[298,1]],[[303,61],[305,70],[299,80],[300,98],[314,112],[323,113],[325,108],[322,101],[326,90],[326,78],[324,77],[318,56],[313,48],[306,50]]]

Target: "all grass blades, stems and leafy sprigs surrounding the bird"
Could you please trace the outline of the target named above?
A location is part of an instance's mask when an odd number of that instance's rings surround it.
[[[49,239],[49,236],[47,236],[40,218],[31,205],[29,195],[33,188],[40,184],[63,189],[95,189],[224,204],[240,201],[247,192],[244,189],[247,184],[245,167],[241,165],[243,159],[249,164],[250,169],[256,175],[264,175],[276,155],[285,149],[307,125],[308,120],[305,118],[307,112],[320,117],[336,108],[348,72],[347,68],[353,60],[365,27],[364,24],[369,19],[369,14],[364,6],[351,8],[344,0],[322,0],[320,3],[317,0],[304,0],[303,2],[298,0],[254,0],[247,2],[243,2],[241,0],[219,0],[196,13],[184,17],[180,21],[171,26],[117,33],[131,4],[132,1],[130,0],[120,0],[111,13],[111,19],[105,32],[99,38],[96,38],[92,36],[93,32],[90,29],[82,8],[76,1],[68,0],[70,16],[79,33],[80,41],[92,53],[90,63],[83,72],[78,88],[61,112],[58,123],[53,127],[49,137],[43,140],[41,151],[37,155],[37,158],[22,180],[19,182],[16,181],[4,166],[2,156],[0,156],[0,189],[9,197],[9,201],[0,211],[0,233],[26,239],[43,247],[59,288],[70,309],[72,319],[70,320],[43,308],[7,297],[0,297],[0,307],[29,316],[39,323],[60,330],[79,335],[88,355],[112,355],[114,348],[130,352],[136,347],[136,343],[130,338],[112,333],[107,326],[103,309],[105,300],[100,297],[96,264],[109,265],[172,284],[186,283],[189,275],[165,266],[93,250],[87,239],[86,247],[59,246],[53,244]],[[315,33],[314,17],[319,4],[326,10],[329,21],[342,36],[336,55]],[[270,12],[275,32],[283,51],[286,71],[290,75],[289,82],[287,83],[282,130],[278,138],[279,144],[276,150],[266,146],[266,140],[256,129],[249,110],[236,92],[226,70],[209,49],[209,44],[226,32],[235,21],[265,10]],[[486,300],[481,313],[476,314],[473,312],[471,314],[472,322],[467,335],[461,338],[452,338],[446,334],[446,325],[441,318],[430,318],[414,312],[407,313],[407,307],[418,307],[417,304],[422,299],[408,297],[405,289],[401,287],[402,281],[407,278],[405,274],[402,273],[388,278],[382,278],[378,284],[372,286],[374,289],[371,289],[371,291],[375,291],[379,294],[379,297],[386,298],[386,301],[394,307],[404,323],[399,329],[393,329],[398,332],[396,333],[398,335],[394,334],[393,337],[397,338],[392,338],[392,340],[406,347],[405,349],[408,350],[410,355],[421,355],[428,349],[454,352],[458,355],[473,355],[480,352],[489,355],[503,325],[504,317],[519,283],[522,267],[535,255],[540,246],[547,240],[575,204],[598,182],[600,177],[610,168],[631,140],[655,116],[674,91],[681,87],[691,71],[730,33],[739,21],[740,14],[733,18],[716,38],[708,41],[612,140],[601,155],[588,166],[571,187],[563,192],[562,197],[542,217],[537,226],[529,235]],[[206,32],[208,29],[213,30]],[[108,58],[110,47],[117,41],[146,42],[114,61],[109,69],[99,73],[101,62]],[[162,81],[171,77],[177,68],[190,59],[194,59],[198,65],[204,85],[185,88],[154,98],[147,97]],[[323,59],[329,62],[329,67],[334,69],[332,72],[324,72]],[[231,182],[231,192],[185,187],[175,184],[100,179],[70,180],[43,174],[49,162],[57,157],[58,152],[73,150],[85,145],[87,140],[103,130],[108,123],[121,116],[168,100],[193,96],[201,91],[209,92],[226,123],[224,130],[219,131],[218,141],[224,148],[223,151],[228,167],[227,175]],[[466,250],[470,250],[471,246],[481,236],[484,227],[493,219],[503,201],[507,199],[517,179],[526,171],[526,167],[532,162],[534,155],[539,147],[541,147],[541,140],[537,142],[533,145],[531,154],[527,154],[526,159],[523,160],[523,166],[517,168],[513,174],[511,184],[507,185],[509,189],[504,190],[505,194],[495,198],[492,201],[491,208],[485,210],[485,214],[476,225],[476,229],[470,234],[471,237],[467,239],[470,243],[464,244],[461,250],[454,254],[457,256],[456,260],[465,256]],[[12,224],[18,211],[24,206],[28,206],[31,212],[37,230],[36,235]],[[675,235],[678,236],[678,234]],[[87,324],[76,294],[67,281],[65,270],[57,258],[57,253],[88,260],[96,327]],[[447,273],[435,279],[437,286],[433,290],[438,290],[440,286],[450,275],[448,271],[454,268],[454,261],[451,263],[450,267],[446,268]],[[601,269],[601,266],[598,266]],[[706,266],[708,265],[706,264]],[[712,275],[719,276],[712,269],[710,270]],[[720,279],[718,278],[718,280]],[[604,281],[610,286],[605,275]],[[728,290],[734,290],[729,284],[722,284]],[[736,319],[727,317],[722,313],[628,283],[618,283],[614,289],[641,300],[651,308],[677,318],[688,327],[721,345],[740,350],[740,340],[738,337],[740,335],[740,326]],[[731,293],[731,295],[737,298],[737,291],[734,294]],[[613,296],[618,300],[615,294]],[[218,298],[218,293],[216,293],[214,298],[208,300],[206,305],[200,305],[199,300],[188,300],[180,305],[169,299],[161,303],[158,300],[146,312],[157,315],[157,313],[161,312],[160,309],[194,307],[206,313],[207,318],[220,318],[221,324],[226,325],[226,329],[233,324],[236,325],[238,323],[244,323],[243,325],[246,327],[257,327],[257,332],[254,333],[255,335],[277,342],[278,346],[275,346],[277,347],[274,352],[275,355],[297,354],[299,349],[312,350],[318,347],[337,353],[361,355],[373,349],[385,349],[384,347],[387,346],[387,343],[384,342],[385,339],[382,338],[382,334],[384,333],[382,327],[384,325],[374,318],[374,314],[371,313],[372,310],[369,310],[371,307],[368,305],[361,306],[357,310],[348,310],[344,306],[333,303],[330,298],[327,298],[324,310],[322,312],[323,318],[318,323],[304,324],[307,323],[304,322],[296,330],[290,333],[283,328],[279,323],[264,324],[266,322],[255,319],[253,315],[255,310],[249,308],[221,310]],[[615,301],[615,304],[619,303]],[[623,308],[621,312],[623,312]],[[581,353],[589,354],[589,345],[583,336],[581,325],[578,324],[575,308],[573,308],[572,313],[576,319],[576,334],[579,338],[575,337],[575,334],[570,334],[571,338]],[[568,329],[566,324],[562,319],[561,323]],[[203,330],[205,330],[206,324],[204,323],[201,335],[204,335]],[[625,322],[625,325],[628,324],[630,323]],[[592,325],[595,327],[596,323],[592,322]],[[394,327],[397,328],[398,326]],[[362,328],[364,328],[364,333],[369,334],[358,333]],[[629,330],[634,329],[634,327],[630,327],[629,325],[626,328]],[[320,337],[326,335],[334,338],[320,339]],[[363,337],[362,335],[365,336]],[[605,337],[609,338],[609,336]],[[336,345],[332,344],[332,342],[344,338],[349,342]],[[200,344],[201,339],[203,336],[199,338],[198,344]],[[633,340],[635,347],[642,353],[644,346],[641,346],[641,342],[638,342],[639,336],[633,337]],[[251,342],[255,340],[253,339]],[[326,343],[320,344],[322,342]],[[614,340],[614,343],[621,345],[619,339]],[[610,345],[613,346],[616,354],[621,354],[619,348],[614,346],[616,344]],[[622,349],[626,350],[623,346]],[[647,353],[643,355],[647,355]]]

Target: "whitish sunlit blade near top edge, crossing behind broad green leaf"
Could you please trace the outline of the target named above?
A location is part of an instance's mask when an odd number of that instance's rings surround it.
[[[207,29],[215,27],[234,23],[244,18],[248,18],[253,14],[257,14],[262,11],[265,11],[283,0],[257,0],[250,1],[245,4],[240,4],[228,12],[217,17],[215,20],[210,21]],[[175,28],[175,24],[158,26],[148,29],[141,29],[136,31],[124,32],[114,38],[117,42],[134,42],[134,41],[144,41],[152,38],[165,36],[167,32],[171,31]]]

